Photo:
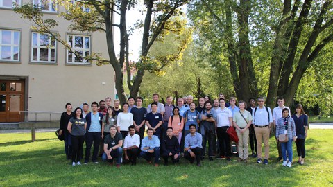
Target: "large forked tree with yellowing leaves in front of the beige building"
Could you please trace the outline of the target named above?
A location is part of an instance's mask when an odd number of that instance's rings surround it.
[[[126,93],[123,87],[123,69],[126,67],[127,86],[130,96],[137,96],[139,87],[142,83],[145,70],[156,71],[162,69],[168,62],[176,59],[172,57],[151,57],[149,51],[151,46],[157,40],[163,39],[164,35],[172,30],[174,33],[179,32],[184,27],[182,19],[173,19],[181,15],[180,7],[187,3],[187,0],[58,0],[56,3],[65,6],[67,12],[60,13],[72,24],[69,30],[78,30],[81,32],[103,32],[105,41],[108,46],[108,59],[101,58],[101,54],[92,53],[85,57],[90,62],[95,61],[97,64],[110,63],[115,73],[115,84],[117,94],[121,103],[126,102]],[[143,4],[139,4],[143,3]],[[140,57],[136,64],[130,65],[130,33],[133,32],[128,28],[126,14],[134,6],[144,6],[144,20],[138,20],[135,27],[131,29],[142,28],[142,46]],[[52,28],[58,26],[55,19],[44,19],[43,12],[40,8],[33,6],[32,3],[25,3],[23,6],[15,8],[16,12],[22,14],[22,17],[33,21],[33,28],[40,33],[49,33],[55,37],[66,48],[70,49],[67,42],[61,39],[60,35],[51,32]],[[117,17],[115,15],[118,15]],[[118,18],[119,20],[115,20]],[[130,18],[133,19],[133,18]],[[117,53],[114,43],[114,29],[119,29],[120,51]],[[135,44],[137,45],[137,44]],[[183,50],[182,47],[179,48]],[[71,51],[76,53],[75,51]],[[178,52],[179,53],[179,52]],[[76,54],[80,55],[80,54]],[[155,62],[159,62],[156,64]],[[155,63],[155,64],[154,64]],[[134,80],[130,78],[131,69],[135,68],[137,74]]]

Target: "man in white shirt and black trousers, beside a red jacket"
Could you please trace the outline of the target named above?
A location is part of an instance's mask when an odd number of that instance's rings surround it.
[[[227,161],[231,161],[231,147],[230,137],[227,133],[229,127],[232,127],[232,112],[230,109],[225,107],[225,100],[220,98],[219,109],[216,109],[216,133],[217,139],[219,140],[220,155],[217,159],[226,158]]]

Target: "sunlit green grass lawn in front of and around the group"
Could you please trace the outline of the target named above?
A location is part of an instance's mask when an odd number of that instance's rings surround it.
[[[271,139],[268,166],[237,163],[233,157],[202,162],[198,168],[185,159],[178,166],[154,168],[140,160],[120,169],[106,163],[71,166],[63,142],[54,132],[0,134],[0,186],[333,186],[333,130],[309,130],[305,165],[292,168],[277,163],[276,143]],[[293,161],[297,161],[293,144]]]

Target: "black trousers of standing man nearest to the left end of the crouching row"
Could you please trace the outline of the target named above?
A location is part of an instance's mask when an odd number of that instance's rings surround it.
[[[92,152],[92,161],[97,161],[97,154],[99,154],[99,143],[101,141],[102,132],[87,132],[85,134],[85,161],[89,161],[90,150],[94,144]]]

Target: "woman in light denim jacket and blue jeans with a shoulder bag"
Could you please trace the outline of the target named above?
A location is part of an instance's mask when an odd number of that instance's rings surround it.
[[[276,123],[276,139],[279,141],[280,134],[287,134],[288,141],[281,142],[281,150],[282,150],[282,157],[283,163],[282,166],[291,167],[293,163],[293,141],[296,141],[296,130],[295,130],[295,122],[293,118],[289,116],[289,110],[287,108],[282,109],[282,118],[278,119],[278,123]],[[289,162],[287,163],[287,154]]]

